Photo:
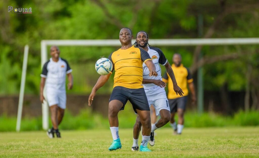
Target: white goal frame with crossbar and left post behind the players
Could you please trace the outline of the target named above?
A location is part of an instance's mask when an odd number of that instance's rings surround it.
[[[135,39],[132,40],[132,43]],[[198,46],[198,45],[248,45],[259,44],[259,38],[214,38],[214,39],[149,39],[152,46]],[[47,62],[47,46],[121,46],[117,40],[42,40],[41,41],[41,67]],[[49,125],[48,104],[42,103],[42,128]]]

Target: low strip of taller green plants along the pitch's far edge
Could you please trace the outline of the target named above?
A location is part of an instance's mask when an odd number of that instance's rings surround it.
[[[239,111],[234,116],[222,116],[215,113],[198,114],[196,112],[187,112],[185,114],[185,127],[224,127],[224,126],[258,126],[259,112]],[[133,128],[136,115],[130,105],[126,105],[125,110],[119,112],[119,127]],[[49,119],[50,120],[50,119]],[[176,116],[177,120],[177,116]],[[15,131],[16,117],[0,116],[0,131]],[[49,122],[51,127],[51,121]],[[80,114],[73,116],[66,110],[60,129],[63,130],[86,130],[86,129],[107,129],[109,121],[100,114],[91,112],[90,110],[81,110]],[[165,127],[170,127],[167,124]],[[21,131],[41,130],[41,117],[29,118],[24,117],[21,121]]]

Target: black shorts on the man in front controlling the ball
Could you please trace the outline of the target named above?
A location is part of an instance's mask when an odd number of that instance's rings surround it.
[[[129,100],[136,113],[136,109],[150,111],[144,88],[131,89],[122,86],[116,86],[112,90],[109,101],[112,100],[119,100],[123,103],[123,107],[120,110],[124,110],[125,104]]]

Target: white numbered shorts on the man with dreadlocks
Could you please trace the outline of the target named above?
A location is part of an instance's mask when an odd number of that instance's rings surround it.
[[[147,96],[149,107],[153,104],[156,116],[159,115],[160,110],[166,109],[170,112],[170,107],[168,103],[168,99],[166,97],[166,92],[160,92],[154,95]]]

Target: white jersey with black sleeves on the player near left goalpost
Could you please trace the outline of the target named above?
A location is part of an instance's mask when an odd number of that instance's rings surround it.
[[[41,77],[47,78],[45,86],[47,89],[66,91],[66,74],[72,72],[68,62],[59,58],[54,62],[52,58],[47,61],[42,69]]]

